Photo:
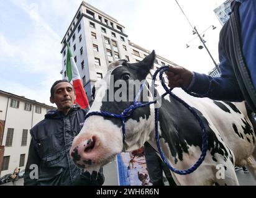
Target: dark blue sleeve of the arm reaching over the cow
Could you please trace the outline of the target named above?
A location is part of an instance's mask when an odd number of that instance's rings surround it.
[[[190,92],[204,95],[213,100],[243,101],[234,70],[219,45],[219,69],[221,77],[211,77],[194,72],[193,80],[188,89]]]

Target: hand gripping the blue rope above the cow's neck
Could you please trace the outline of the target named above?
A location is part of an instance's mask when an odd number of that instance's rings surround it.
[[[188,88],[193,78],[193,73],[180,66],[169,66],[169,71],[165,72],[169,81],[170,88],[184,87]]]

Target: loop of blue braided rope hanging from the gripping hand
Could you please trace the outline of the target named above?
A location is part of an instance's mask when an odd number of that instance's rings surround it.
[[[169,93],[170,96],[173,97],[175,100],[177,100],[182,105],[184,105],[193,114],[193,116],[198,120],[199,126],[201,127],[201,130],[202,130],[202,136],[203,136],[202,152],[201,152],[201,155],[200,155],[198,161],[196,161],[196,163],[193,166],[191,166],[190,168],[188,168],[187,170],[177,170],[176,168],[173,168],[168,163],[165,156],[163,155],[162,149],[160,147],[160,140],[159,140],[159,133],[158,133],[158,116],[159,116],[158,108],[155,108],[155,139],[157,140],[157,148],[158,148],[158,151],[160,153],[160,156],[161,156],[162,160],[165,162],[165,164],[168,166],[168,168],[170,168],[171,171],[173,171],[177,174],[190,174],[193,171],[195,171],[201,165],[201,163],[203,163],[204,158],[206,157],[206,152],[208,150],[208,134],[206,132],[206,128],[204,127],[204,123],[203,123],[202,119],[198,116],[196,111],[194,111],[193,108],[191,108],[191,106],[188,105],[185,101],[181,100],[174,93],[172,93],[171,89],[169,90],[167,88],[167,86],[165,85],[165,82],[163,81],[163,72],[168,71],[168,69],[169,69],[168,66],[161,67],[160,69],[158,69],[158,71],[156,73],[160,72],[159,78],[161,80],[162,86],[165,89],[165,91],[167,93]],[[155,80],[156,76],[157,75],[153,76],[153,80]]]

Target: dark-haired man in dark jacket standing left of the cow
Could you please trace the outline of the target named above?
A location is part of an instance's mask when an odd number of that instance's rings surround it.
[[[48,111],[45,119],[31,130],[29,157],[24,185],[102,185],[103,168],[97,173],[80,170],[70,159],[73,138],[78,135],[88,110],[75,101],[73,86],[67,80],[52,85],[50,101],[58,110]]]

